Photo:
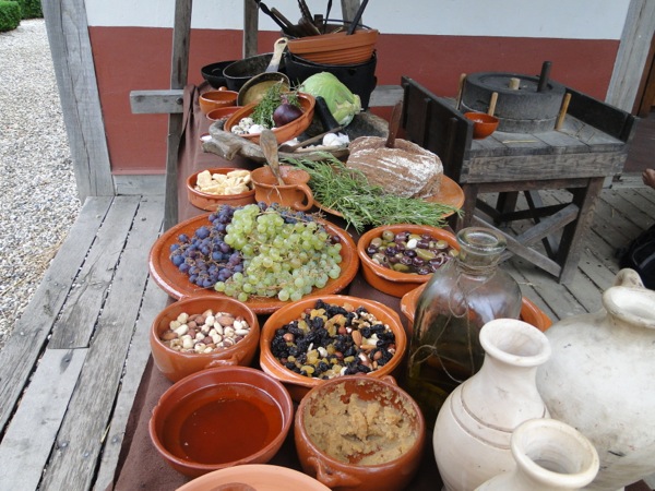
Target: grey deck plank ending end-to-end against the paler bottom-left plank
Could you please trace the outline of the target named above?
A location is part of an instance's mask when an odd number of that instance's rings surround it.
[[[80,270],[52,330],[52,349],[83,348],[94,334],[98,312],[111,287],[126,238],[139,208],[139,196],[117,196]]]

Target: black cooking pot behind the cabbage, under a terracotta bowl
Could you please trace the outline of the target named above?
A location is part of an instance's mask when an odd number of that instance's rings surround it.
[[[368,109],[371,92],[378,84],[376,52],[370,60],[357,64],[321,64],[286,52],[284,56],[286,74],[293,85],[300,85],[315,73],[330,72],[336,76],[353,94],[361,99],[361,108]]]

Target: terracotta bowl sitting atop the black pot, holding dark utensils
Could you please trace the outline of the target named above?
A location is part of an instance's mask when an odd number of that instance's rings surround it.
[[[357,29],[350,36],[345,31],[289,39],[289,52],[324,64],[364,63],[371,59],[378,29]]]

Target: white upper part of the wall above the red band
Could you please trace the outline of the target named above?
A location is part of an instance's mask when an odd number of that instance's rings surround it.
[[[193,1],[192,27],[242,29],[243,1]],[[326,0],[306,1],[312,13],[324,13]],[[291,21],[300,16],[297,0],[264,3]],[[330,16],[341,19],[341,1],[333,3]],[[370,0],[362,22],[389,34],[620,39],[629,3],[630,0]],[[90,26],[172,27],[174,11],[175,0],[86,0]],[[278,27],[260,13],[260,29]]]

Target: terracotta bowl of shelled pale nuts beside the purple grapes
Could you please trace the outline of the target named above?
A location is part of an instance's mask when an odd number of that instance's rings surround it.
[[[259,336],[258,318],[248,306],[228,297],[201,296],[159,312],[150,343],[155,366],[177,382],[209,368],[250,364]]]

